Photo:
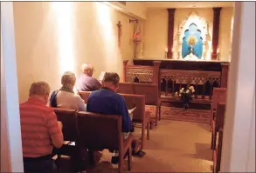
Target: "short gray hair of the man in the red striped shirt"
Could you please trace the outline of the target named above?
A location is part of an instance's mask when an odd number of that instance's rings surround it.
[[[31,84],[30,96],[31,95],[49,95],[50,94],[50,85],[45,81],[39,81],[37,83]]]

